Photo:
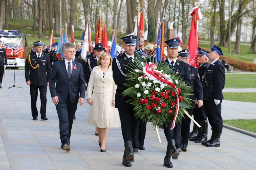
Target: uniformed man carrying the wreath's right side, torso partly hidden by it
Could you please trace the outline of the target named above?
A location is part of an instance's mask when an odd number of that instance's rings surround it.
[[[168,65],[170,68],[172,68],[172,71],[174,73],[176,73],[182,79],[187,81],[187,84],[189,84],[189,86],[190,86],[191,80],[190,80],[189,65],[187,63],[184,63],[183,61],[179,61],[177,59],[179,42],[180,42],[180,40],[178,40],[176,38],[165,41],[165,43],[167,45],[168,56],[164,62],[166,65]],[[177,129],[177,130],[175,130],[175,134],[174,134],[174,130],[170,130],[171,126],[172,126],[172,121],[167,122],[167,127],[166,127],[166,125],[163,125],[164,134],[165,134],[167,142],[168,142],[167,149],[166,149],[166,156],[164,157],[164,160],[163,160],[163,165],[168,168],[173,167],[173,164],[170,160],[171,157],[172,157],[172,159],[178,159],[179,151],[177,150],[177,148],[175,146],[175,139],[178,137],[181,138],[181,128],[180,128],[181,124],[178,122],[175,125],[175,128]],[[176,139],[176,141],[177,140],[180,140],[180,139]]]

